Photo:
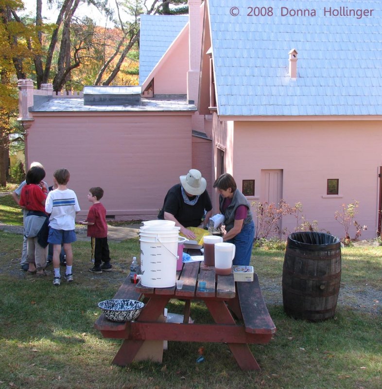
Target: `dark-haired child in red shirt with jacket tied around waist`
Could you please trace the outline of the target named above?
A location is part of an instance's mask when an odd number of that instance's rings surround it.
[[[24,219],[24,233],[28,239],[28,273],[37,276],[47,275],[48,215],[45,212],[45,200],[48,188],[42,181],[44,177],[43,168],[35,166],[29,169],[19,201],[19,205],[28,211]]]

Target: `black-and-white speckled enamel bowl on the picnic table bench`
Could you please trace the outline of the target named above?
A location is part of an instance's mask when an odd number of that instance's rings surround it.
[[[98,303],[105,317],[111,321],[133,321],[138,318],[144,303],[137,300],[113,299]]]

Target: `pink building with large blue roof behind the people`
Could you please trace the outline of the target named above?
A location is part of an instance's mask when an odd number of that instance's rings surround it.
[[[189,6],[189,22],[139,89],[87,87],[84,96],[57,98],[49,85],[36,91],[20,80],[27,160],[41,161],[48,177],[67,167],[83,214],[88,188],[99,185],[110,218],[155,217],[192,167],[207,178],[215,212],[212,183],[226,171],[250,202],[301,202],[308,221],[340,237],[334,212],[357,200],[362,237],[375,237],[382,1],[367,3],[376,16],[365,18],[351,9],[329,15],[320,1],[309,2],[309,15],[283,15],[283,1]],[[293,231],[295,219],[280,227]]]

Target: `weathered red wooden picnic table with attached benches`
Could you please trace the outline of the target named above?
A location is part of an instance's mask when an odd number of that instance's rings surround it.
[[[260,370],[248,344],[268,343],[276,332],[263,300],[259,279],[253,282],[236,282],[233,274],[215,275],[213,267],[203,262],[185,263],[177,272],[183,280],[182,289],[151,288],[130,282],[128,276],[114,299],[133,299],[145,302],[138,319],[117,323],[102,314],[95,323],[105,338],[124,339],[112,363],[118,366],[130,364],[145,341],[170,340],[185,342],[226,343],[242,370]],[[200,290],[198,284],[206,287]],[[168,302],[182,300],[183,323],[158,322]],[[189,323],[191,301],[203,301],[214,323]]]

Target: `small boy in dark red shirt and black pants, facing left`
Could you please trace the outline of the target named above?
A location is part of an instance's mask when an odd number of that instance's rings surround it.
[[[91,248],[94,250],[94,266],[89,269],[92,273],[111,271],[110,252],[107,244],[106,210],[100,199],[104,190],[100,187],[90,188],[87,199],[93,203],[86,220],[78,222],[87,226],[87,236],[91,237]],[[104,263],[104,264],[102,264]]]

